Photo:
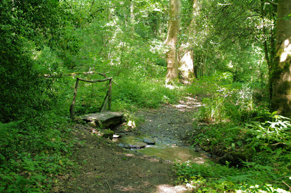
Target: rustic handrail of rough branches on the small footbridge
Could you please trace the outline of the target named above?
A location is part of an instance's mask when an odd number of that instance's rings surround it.
[[[74,107],[75,107],[76,98],[77,98],[79,81],[95,83],[95,82],[105,82],[105,81],[109,80],[109,89],[108,89],[108,91],[106,93],[106,96],[105,96],[105,98],[103,100],[101,112],[103,112],[105,110],[107,104],[108,104],[108,109],[109,110],[111,109],[111,90],[112,90],[112,79],[113,79],[113,77],[106,77],[105,74],[102,74],[102,75],[105,77],[104,79],[85,80],[85,79],[82,79],[82,78],[77,78],[76,84],[75,84],[73,101],[72,101],[72,104],[70,106],[70,118],[71,119],[74,119],[74,114],[75,114],[74,113]]]

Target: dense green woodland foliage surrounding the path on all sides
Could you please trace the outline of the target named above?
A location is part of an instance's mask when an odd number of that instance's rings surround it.
[[[286,189],[277,179],[291,175],[290,120],[269,112],[275,5],[201,0],[193,22],[193,0],[181,0],[178,46],[193,50],[196,80],[166,85],[168,1],[134,1],[131,13],[130,2],[1,0],[0,191],[49,192],[73,164],[76,77],[102,78],[88,72],[113,76],[113,111],[203,98],[189,142],[227,165],[177,163],[180,181],[194,179],[202,192]],[[99,111],[107,89],[81,82],[76,114]]]

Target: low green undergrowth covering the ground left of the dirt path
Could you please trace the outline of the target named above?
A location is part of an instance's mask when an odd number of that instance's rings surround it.
[[[49,192],[58,174],[73,165],[66,125],[53,113],[0,123],[0,192]]]

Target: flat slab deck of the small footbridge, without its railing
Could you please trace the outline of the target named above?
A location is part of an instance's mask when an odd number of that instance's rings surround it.
[[[91,127],[112,128],[122,123],[124,113],[105,111],[80,116],[79,118],[88,122]]]

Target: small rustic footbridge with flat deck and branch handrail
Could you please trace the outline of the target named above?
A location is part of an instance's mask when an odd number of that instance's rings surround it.
[[[111,126],[114,126],[122,121],[123,113],[116,113],[116,112],[110,111],[111,110],[111,101],[112,101],[111,91],[112,91],[113,77],[106,77],[105,74],[101,74],[101,73],[97,73],[97,74],[104,76],[104,79],[86,80],[86,79],[82,79],[82,78],[77,77],[73,101],[72,101],[72,104],[70,106],[70,118],[74,119],[74,117],[75,117],[74,106],[76,103],[79,81],[89,82],[89,83],[109,81],[109,88],[108,88],[108,91],[107,91],[105,98],[102,102],[100,112],[83,115],[83,116],[80,116],[78,118],[82,119],[86,122],[89,122],[90,125],[93,127],[111,127]],[[108,106],[109,111],[105,111],[107,106]]]

